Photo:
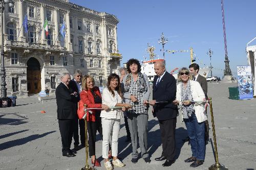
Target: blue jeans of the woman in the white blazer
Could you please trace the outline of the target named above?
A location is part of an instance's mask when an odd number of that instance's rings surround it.
[[[184,122],[190,140],[192,156],[196,157],[198,160],[204,160],[204,122],[198,123],[195,113],[193,113],[189,118],[184,118]]]

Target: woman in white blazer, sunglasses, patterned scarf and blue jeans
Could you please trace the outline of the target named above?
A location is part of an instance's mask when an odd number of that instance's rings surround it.
[[[193,162],[191,167],[203,164],[205,158],[204,121],[207,119],[204,100],[205,94],[197,81],[191,80],[189,70],[179,70],[175,104],[181,105],[181,116],[185,122],[190,139],[192,156],[185,162]],[[195,101],[195,102],[193,102]]]

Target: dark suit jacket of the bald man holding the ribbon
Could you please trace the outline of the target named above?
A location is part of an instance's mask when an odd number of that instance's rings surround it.
[[[173,101],[176,99],[176,80],[167,71],[156,86],[157,79],[158,76],[155,76],[153,82],[153,100],[168,103],[157,103],[154,106],[153,114],[159,120],[175,118],[178,115],[178,107],[173,104]]]

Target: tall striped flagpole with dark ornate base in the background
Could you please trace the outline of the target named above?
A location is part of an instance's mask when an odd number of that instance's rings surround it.
[[[225,17],[224,17],[224,7],[223,0],[221,0],[221,9],[222,9],[222,25],[223,25],[223,33],[224,33],[224,45],[225,45],[225,70],[224,76],[232,76],[231,69],[229,67],[229,60],[227,56],[227,40],[226,40],[226,28],[225,28]]]

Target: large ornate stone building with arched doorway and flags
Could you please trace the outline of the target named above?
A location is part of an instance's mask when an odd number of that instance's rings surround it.
[[[23,25],[28,18],[28,32]],[[44,29],[48,20],[48,35]],[[69,0],[16,0],[4,12],[7,95],[27,96],[46,88],[55,92],[60,73],[81,69],[105,85],[120,67],[116,16]],[[66,36],[59,34],[62,24]],[[1,35],[3,36],[3,35]],[[2,42],[1,42],[2,43]]]

